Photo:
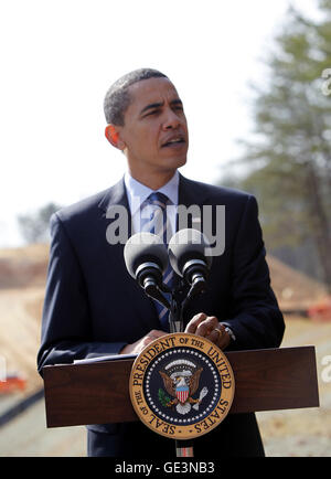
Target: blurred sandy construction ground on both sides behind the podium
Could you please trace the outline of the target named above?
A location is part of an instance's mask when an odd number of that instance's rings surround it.
[[[47,246],[0,251],[0,359],[9,373],[26,379],[22,392],[0,394],[0,418],[12,406],[39,391],[35,356],[47,265]],[[268,258],[273,287],[280,306],[300,309],[325,294],[318,283]],[[331,456],[331,373],[323,359],[331,356],[331,322],[286,315],[281,347],[312,344],[317,352],[320,407],[257,413],[268,457]],[[329,362],[331,364],[331,362]],[[0,457],[86,456],[84,426],[46,428],[44,400],[0,426]]]

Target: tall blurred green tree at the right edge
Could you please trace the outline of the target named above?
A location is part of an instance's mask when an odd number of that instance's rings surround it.
[[[276,38],[266,86],[254,93],[255,136],[241,159],[250,171],[241,187],[258,196],[271,247],[313,241],[331,289],[331,92],[322,79],[331,68],[331,0],[319,8],[319,21],[290,8]]]

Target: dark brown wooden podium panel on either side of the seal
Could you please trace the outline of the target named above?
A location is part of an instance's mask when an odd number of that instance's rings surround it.
[[[225,353],[235,376],[229,414],[318,407],[313,347]],[[43,369],[47,427],[139,421],[129,396],[134,360]]]

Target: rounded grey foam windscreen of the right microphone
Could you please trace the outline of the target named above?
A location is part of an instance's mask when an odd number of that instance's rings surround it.
[[[201,259],[210,268],[212,257],[206,256],[210,242],[199,230],[185,228],[178,231],[169,242],[168,253],[173,270],[182,276],[186,262]]]

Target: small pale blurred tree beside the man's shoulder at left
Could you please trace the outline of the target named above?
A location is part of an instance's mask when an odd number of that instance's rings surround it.
[[[19,227],[26,243],[43,243],[49,241],[50,219],[60,207],[58,204],[47,203],[33,214],[18,216]]]

